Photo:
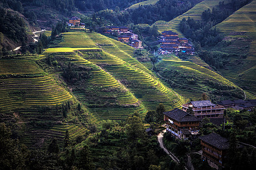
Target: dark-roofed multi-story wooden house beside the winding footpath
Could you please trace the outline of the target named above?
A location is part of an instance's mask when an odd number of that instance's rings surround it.
[[[177,108],[163,114],[166,130],[176,138],[195,138],[199,134],[199,118]]]

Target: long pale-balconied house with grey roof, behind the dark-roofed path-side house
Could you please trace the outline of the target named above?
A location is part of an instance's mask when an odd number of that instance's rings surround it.
[[[195,116],[198,118],[220,118],[223,117],[224,107],[222,105],[216,105],[210,102],[210,100],[191,101],[182,105],[182,110],[187,112],[191,107]]]

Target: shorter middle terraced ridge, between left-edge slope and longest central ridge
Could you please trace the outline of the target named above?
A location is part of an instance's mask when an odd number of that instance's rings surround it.
[[[89,41],[88,41],[89,42]],[[74,48],[75,49],[75,48]],[[81,57],[88,54],[97,54],[100,52],[88,52],[88,50],[76,51],[73,53],[60,53],[62,57],[73,59],[73,63],[92,67],[93,78],[85,84],[86,91],[73,91],[83,104],[94,113],[94,116],[100,119],[125,120],[128,114],[138,111],[142,115],[146,114],[147,109],[139,100],[131,94],[117,79],[111,74],[102,70],[92,61]],[[55,55],[58,53],[55,53]],[[79,54],[79,55],[78,55]],[[104,56],[105,53],[102,52]],[[97,59],[94,59],[97,61]],[[104,62],[98,59],[98,62]],[[105,64],[115,63],[109,58]]]

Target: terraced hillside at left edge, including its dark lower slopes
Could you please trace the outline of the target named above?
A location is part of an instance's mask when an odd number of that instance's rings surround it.
[[[35,55],[0,58],[1,122],[18,126],[20,141],[30,147],[42,146],[50,138],[62,143],[66,128],[71,138],[88,133],[84,126],[71,120],[77,115],[68,116],[68,126],[63,124],[61,105],[70,103],[71,112],[76,100],[60,80],[43,70],[45,58]]]

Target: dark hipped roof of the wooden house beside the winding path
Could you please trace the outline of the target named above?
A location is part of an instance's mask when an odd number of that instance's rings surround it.
[[[192,116],[191,114],[181,111],[178,108],[173,109],[169,112],[164,112],[166,116],[178,121],[178,122],[192,122],[192,121],[200,121],[199,118]]]

